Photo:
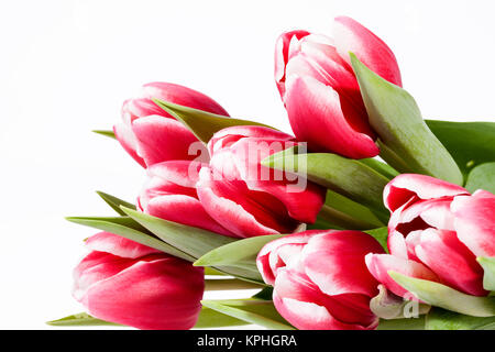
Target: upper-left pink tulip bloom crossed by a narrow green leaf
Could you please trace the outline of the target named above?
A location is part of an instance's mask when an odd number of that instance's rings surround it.
[[[143,167],[170,160],[195,160],[200,152],[207,155],[193,132],[152,99],[229,116],[215,100],[190,88],[168,82],[144,85],[140,97],[124,101],[123,122],[113,127],[123,148]]]

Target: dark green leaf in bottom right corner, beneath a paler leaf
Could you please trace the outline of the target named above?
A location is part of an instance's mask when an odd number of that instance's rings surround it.
[[[495,317],[471,317],[433,308],[426,317],[427,330],[495,330]]]

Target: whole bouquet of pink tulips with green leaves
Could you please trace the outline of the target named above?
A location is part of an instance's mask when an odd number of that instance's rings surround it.
[[[68,218],[100,231],[74,271],[87,312],[51,323],[494,329],[495,123],[424,120],[344,16],[282,34],[275,82],[294,135],[169,82],[96,131],[147,182],[135,202],[99,193],[114,217]]]

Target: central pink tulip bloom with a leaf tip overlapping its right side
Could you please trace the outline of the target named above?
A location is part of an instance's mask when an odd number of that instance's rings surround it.
[[[315,222],[326,190],[261,165],[296,144],[292,135],[265,127],[216,133],[208,143],[209,166],[201,168],[197,184],[205,210],[239,238],[290,233],[302,222]]]

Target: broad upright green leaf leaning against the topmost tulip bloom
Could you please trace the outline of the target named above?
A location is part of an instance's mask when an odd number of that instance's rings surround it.
[[[458,165],[422,120],[415,99],[350,55],[370,124],[380,136],[381,157],[400,173],[425,174],[461,185]]]

